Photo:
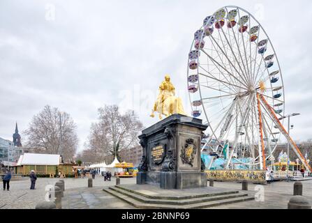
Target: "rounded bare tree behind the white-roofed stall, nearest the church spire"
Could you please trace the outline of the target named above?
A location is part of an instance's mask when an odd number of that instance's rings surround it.
[[[40,153],[60,154],[68,162],[77,151],[75,130],[76,125],[68,113],[46,105],[24,132],[28,139],[26,146],[36,148]]]

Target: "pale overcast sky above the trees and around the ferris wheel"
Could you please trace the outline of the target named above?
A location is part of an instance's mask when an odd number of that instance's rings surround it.
[[[228,4],[253,14],[281,63],[294,139],[312,138],[312,1],[0,1],[0,137],[12,140],[45,105],[68,112],[79,150],[97,109],[134,109],[144,126],[165,73],[187,100],[193,33]],[[22,134],[22,142],[25,137]]]

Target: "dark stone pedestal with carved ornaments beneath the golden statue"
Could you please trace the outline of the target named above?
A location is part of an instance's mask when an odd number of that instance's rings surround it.
[[[163,189],[207,187],[200,158],[206,128],[198,118],[174,114],[143,130],[137,184]]]

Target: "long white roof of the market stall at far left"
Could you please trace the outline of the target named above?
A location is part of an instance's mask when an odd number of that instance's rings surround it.
[[[57,154],[39,154],[39,153],[24,153],[20,155],[17,166],[20,165],[59,165],[61,156]]]

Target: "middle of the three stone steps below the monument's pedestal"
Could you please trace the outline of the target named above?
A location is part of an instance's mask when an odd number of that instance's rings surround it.
[[[193,203],[202,203],[206,201],[218,201],[223,199],[232,199],[235,197],[246,197],[248,194],[223,194],[223,195],[215,195],[209,197],[197,197],[197,198],[189,198],[189,199],[151,199],[147,197],[143,197],[139,194],[135,194],[133,192],[129,192],[126,190],[121,190],[118,187],[109,187],[110,190],[114,190],[115,192],[119,192],[120,194],[124,194],[128,197],[131,197],[137,201],[143,203],[158,203],[158,204],[171,204],[171,205],[186,205],[186,204],[193,204]]]

